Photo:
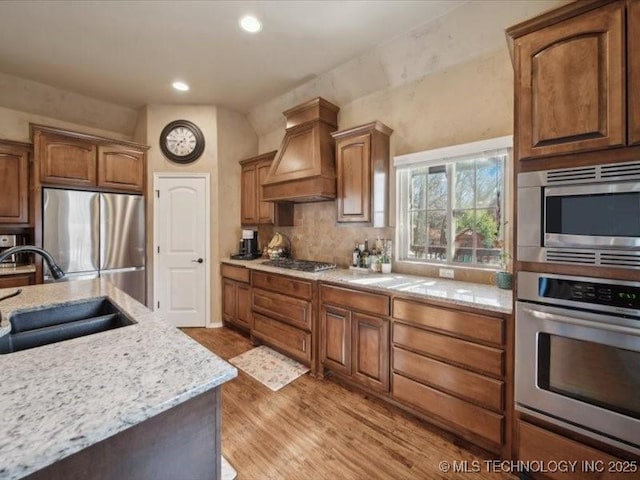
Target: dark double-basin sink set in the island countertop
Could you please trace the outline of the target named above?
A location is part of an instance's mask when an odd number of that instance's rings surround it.
[[[113,330],[136,323],[107,297],[14,312],[11,332],[0,337],[0,354]]]

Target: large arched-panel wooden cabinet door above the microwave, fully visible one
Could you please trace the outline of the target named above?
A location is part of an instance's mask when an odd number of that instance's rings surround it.
[[[516,40],[520,158],[624,144],[623,9],[614,3]]]

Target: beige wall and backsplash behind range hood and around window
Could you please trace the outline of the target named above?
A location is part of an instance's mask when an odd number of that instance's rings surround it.
[[[394,130],[390,146],[392,158],[510,135],[513,130],[513,69],[507,49],[503,48],[340,107],[340,129],[373,120],[391,127]],[[279,148],[283,134],[284,129],[276,129],[260,136],[260,152]],[[392,173],[392,210],[394,185]],[[295,226],[277,230],[292,240],[296,256],[339,265],[347,264],[355,240],[394,237],[393,228],[345,227],[338,225],[335,219],[335,202],[300,204],[295,206]],[[261,237],[268,240],[272,231],[261,229]],[[427,275],[435,273],[434,269],[422,266],[411,271]],[[457,278],[489,281],[486,274],[469,276],[460,272]]]

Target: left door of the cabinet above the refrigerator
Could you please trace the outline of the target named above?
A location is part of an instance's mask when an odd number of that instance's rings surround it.
[[[96,185],[95,145],[62,135],[41,135],[36,142],[42,183]]]

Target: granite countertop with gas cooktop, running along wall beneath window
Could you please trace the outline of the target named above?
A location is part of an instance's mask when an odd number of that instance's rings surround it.
[[[222,263],[247,267],[292,277],[316,280],[354,288],[363,288],[386,294],[402,294],[418,300],[437,300],[486,311],[510,314],[513,309],[511,290],[502,290],[494,285],[460,282],[444,278],[421,277],[402,273],[367,273],[346,268],[325,270],[318,273],[299,272],[285,268],[263,265],[265,260],[223,259]]]

